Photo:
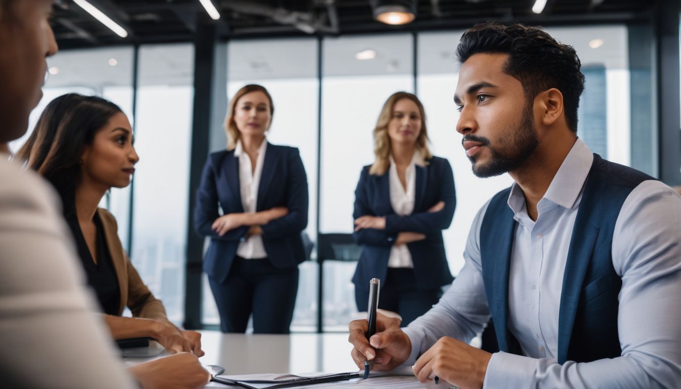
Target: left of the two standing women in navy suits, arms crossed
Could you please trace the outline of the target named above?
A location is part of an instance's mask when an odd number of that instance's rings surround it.
[[[227,150],[208,156],[197,191],[197,232],[210,237],[204,271],[223,332],[288,333],[305,260],[307,178],[298,149],[270,144],[272,97],[259,85],[229,103]],[[221,213],[219,211],[221,208]]]

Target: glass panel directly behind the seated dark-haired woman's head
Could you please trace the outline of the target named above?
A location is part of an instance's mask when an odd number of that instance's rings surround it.
[[[26,142],[40,114],[50,102],[66,93],[96,95],[118,104],[133,122],[132,78],[133,48],[101,48],[60,51],[48,58],[50,75],[43,87],[43,98],[31,112],[29,130],[22,138],[10,142],[14,153]],[[99,206],[108,208],[118,222],[118,237],[128,248],[130,187],[112,188]]]

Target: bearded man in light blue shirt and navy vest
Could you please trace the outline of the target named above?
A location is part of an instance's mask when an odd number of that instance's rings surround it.
[[[350,324],[362,369],[413,365],[460,388],[681,388],[681,197],[577,138],[575,50],[523,25],[457,48],[457,131],[486,177],[515,183],[473,221],[440,302],[399,328]],[[494,320],[501,352],[467,344]]]

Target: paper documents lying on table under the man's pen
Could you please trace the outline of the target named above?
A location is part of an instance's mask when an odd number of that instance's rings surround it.
[[[437,386],[434,382],[422,384],[414,376],[411,367],[401,367],[390,372],[372,371],[368,379],[362,379],[362,372],[340,374],[312,373],[302,375],[219,375],[215,379],[216,382],[210,382],[206,388],[448,388],[447,386]]]

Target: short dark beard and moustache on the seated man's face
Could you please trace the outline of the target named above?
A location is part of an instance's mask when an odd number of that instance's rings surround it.
[[[505,137],[504,137],[505,136]],[[490,149],[492,158],[486,164],[475,164],[475,156],[469,157],[473,163],[473,174],[480,178],[499,176],[505,172],[516,170],[537,149],[537,129],[533,123],[531,106],[526,106],[520,124],[511,132],[504,134],[496,146],[490,140],[475,135],[464,136],[462,142],[471,140],[481,142]]]

